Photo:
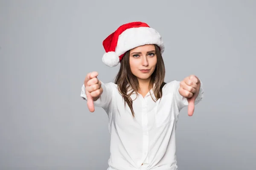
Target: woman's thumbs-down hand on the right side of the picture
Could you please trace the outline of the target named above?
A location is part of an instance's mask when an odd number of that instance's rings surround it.
[[[188,100],[188,115],[192,116],[195,110],[195,99],[199,94],[201,82],[198,77],[191,75],[180,82],[180,95]]]

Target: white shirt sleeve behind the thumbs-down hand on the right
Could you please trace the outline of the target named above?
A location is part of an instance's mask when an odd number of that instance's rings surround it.
[[[200,80],[200,82],[201,82],[201,85],[199,88],[198,96],[195,99],[195,105],[197,105],[204,97],[203,82],[201,80]],[[185,106],[188,106],[189,103],[188,103],[188,100],[186,97],[183,97],[180,95],[179,88],[180,88],[180,81],[175,81],[174,96],[175,96],[175,99],[177,102],[178,109],[181,110]]]

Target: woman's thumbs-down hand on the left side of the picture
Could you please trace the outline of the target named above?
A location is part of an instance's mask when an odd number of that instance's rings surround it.
[[[94,112],[93,101],[99,99],[102,94],[101,82],[97,78],[98,73],[96,71],[88,73],[84,79],[85,93],[87,96],[87,107],[90,112]]]

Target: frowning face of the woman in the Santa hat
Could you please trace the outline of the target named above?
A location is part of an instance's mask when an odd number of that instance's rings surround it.
[[[138,80],[150,80],[157,65],[154,45],[143,45],[130,51],[131,72]]]

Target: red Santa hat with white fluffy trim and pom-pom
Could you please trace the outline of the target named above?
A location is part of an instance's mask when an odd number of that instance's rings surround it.
[[[158,45],[163,54],[162,37],[155,29],[142,22],[126,23],[103,41],[106,53],[103,55],[102,61],[105,65],[114,67],[122,60],[126,51],[146,44]]]

